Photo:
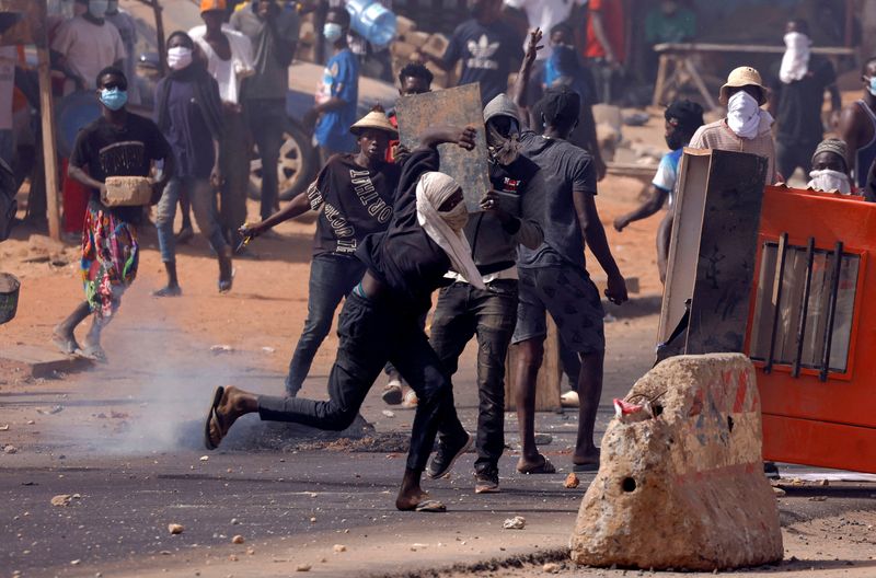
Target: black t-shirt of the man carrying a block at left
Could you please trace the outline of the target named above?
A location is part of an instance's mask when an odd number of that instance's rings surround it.
[[[103,183],[107,176],[149,176],[152,161],[171,154],[170,144],[150,119],[128,113],[124,126],[116,126],[103,116],[79,131],[70,154],[70,165],[88,171]],[[100,190],[92,189],[92,207],[112,211],[123,221],[137,222],[140,207],[110,209],[101,203]]]

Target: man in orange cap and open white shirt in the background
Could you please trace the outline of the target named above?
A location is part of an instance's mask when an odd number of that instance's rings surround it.
[[[207,70],[219,83],[222,99],[219,223],[229,244],[238,246],[238,229],[246,222],[246,188],[250,186],[250,136],[243,118],[240,88],[254,69],[252,43],[224,24],[227,9],[226,0],[203,0],[200,18],[205,25],[192,28],[188,35],[200,48],[207,59]]]

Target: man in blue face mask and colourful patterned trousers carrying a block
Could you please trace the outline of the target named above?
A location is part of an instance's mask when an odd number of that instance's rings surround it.
[[[122,70],[104,68],[94,83],[102,104],[101,117],[79,131],[68,170],[70,178],[90,189],[80,262],[85,300],[55,327],[51,339],[65,354],[105,361],[101,333],[115,316],[122,294],[137,276],[136,224],[143,211],[140,206],[104,205],[106,178],[149,176],[153,163],[163,160],[161,177],[152,186],[154,205],[174,175],[175,162],[158,126],[127,111],[128,80]],[[73,332],[90,315],[93,323],[80,346]]]

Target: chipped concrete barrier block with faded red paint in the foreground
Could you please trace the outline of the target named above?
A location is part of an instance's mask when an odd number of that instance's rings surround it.
[[[642,409],[615,417],[602,438],[572,559],[692,570],[781,560],[779,508],[763,475],[760,397],[748,358],[667,359],[625,401]]]

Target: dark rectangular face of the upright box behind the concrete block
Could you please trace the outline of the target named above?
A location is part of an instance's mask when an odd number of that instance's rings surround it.
[[[712,151],[685,352],[742,352],[766,159]]]

